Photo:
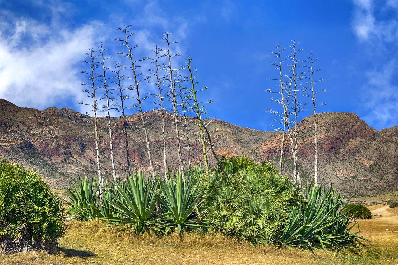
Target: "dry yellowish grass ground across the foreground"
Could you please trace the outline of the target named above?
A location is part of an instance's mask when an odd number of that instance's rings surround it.
[[[373,206],[379,211],[383,205]],[[381,209],[383,210],[383,209]],[[113,233],[98,222],[73,221],[56,254],[20,253],[0,257],[1,264],[398,264],[398,210],[360,220],[370,242],[358,251],[316,251],[250,247],[221,235],[189,234],[153,238]],[[386,230],[388,229],[388,231]]]

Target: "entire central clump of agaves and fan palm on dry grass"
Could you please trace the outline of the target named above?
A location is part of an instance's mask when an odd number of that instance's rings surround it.
[[[207,172],[195,166],[185,177],[176,171],[166,179],[136,172],[105,185],[101,198],[97,191],[95,180],[73,184],[66,191],[69,214],[136,234],[220,232],[252,245],[338,249],[363,239],[351,231],[357,222],[333,187],[300,189],[272,162],[244,156],[222,158]]]

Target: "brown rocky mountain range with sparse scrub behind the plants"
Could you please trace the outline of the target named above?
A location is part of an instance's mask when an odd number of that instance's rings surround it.
[[[150,144],[156,169],[162,170],[162,138],[160,113],[146,113]],[[299,163],[303,179],[310,181],[313,171],[312,117],[298,126]],[[49,179],[55,189],[68,187],[69,182],[84,174],[95,175],[96,158],[93,138],[93,119],[71,109],[54,107],[39,111],[21,108],[0,99],[0,156],[34,168]],[[120,118],[113,118],[116,142],[117,174],[126,174],[125,144]],[[192,164],[203,162],[197,126],[188,120],[189,133],[183,132],[183,156],[188,161],[189,143]],[[138,115],[128,118],[131,164],[134,170],[149,171],[144,136]],[[105,175],[110,177],[107,150],[107,124],[101,119],[101,162]],[[319,115],[319,180],[334,183],[346,194],[371,195],[396,189],[398,184],[398,141],[390,138],[387,129],[380,132],[369,127],[353,113],[322,113]],[[393,127],[394,128],[394,127]],[[242,128],[214,119],[209,125],[217,153],[225,156],[245,154],[256,160],[279,161],[281,136]],[[177,164],[177,147],[172,119],[167,119],[168,163]],[[289,143],[284,159],[284,171],[291,174]],[[211,163],[215,160],[210,157]]]

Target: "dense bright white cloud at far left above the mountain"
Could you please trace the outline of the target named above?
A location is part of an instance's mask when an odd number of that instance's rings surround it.
[[[99,42],[95,29],[100,25],[91,22],[69,30],[10,14],[7,20],[2,25],[8,27],[0,30],[0,97],[39,109],[85,99],[79,85],[81,61]]]

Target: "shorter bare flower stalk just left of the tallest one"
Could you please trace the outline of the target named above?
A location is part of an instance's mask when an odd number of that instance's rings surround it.
[[[125,145],[126,145],[126,160],[127,160],[127,170],[129,171],[129,175],[131,175],[131,166],[130,166],[130,153],[129,153],[129,141],[128,141],[128,135],[127,135],[127,118],[126,118],[126,113],[125,113],[125,100],[129,99],[129,95],[126,94],[127,88],[122,85],[122,81],[129,79],[127,76],[124,76],[121,74],[121,70],[124,69],[123,64],[119,62],[119,60],[115,60],[115,68],[113,70],[113,73],[115,73],[115,78],[117,80],[112,81],[113,84],[116,84],[117,92],[112,92],[112,94],[118,95],[120,97],[120,105],[116,105],[116,111],[121,113],[122,119],[123,119],[123,134],[124,134],[124,140],[125,140]]]

